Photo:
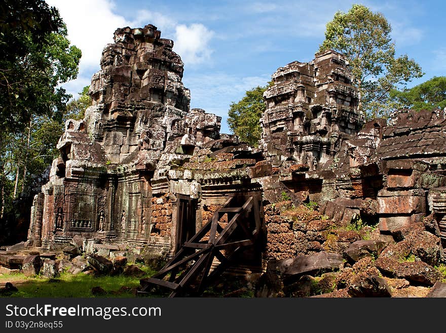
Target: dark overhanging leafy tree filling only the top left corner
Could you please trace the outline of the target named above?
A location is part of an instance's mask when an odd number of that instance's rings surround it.
[[[35,115],[64,112],[70,95],[58,86],[77,77],[81,51],[43,0],[6,0],[0,7],[0,124],[18,132]]]

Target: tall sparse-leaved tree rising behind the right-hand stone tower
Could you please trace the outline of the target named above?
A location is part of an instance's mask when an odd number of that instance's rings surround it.
[[[368,119],[388,116],[390,91],[424,75],[420,65],[407,55],[395,57],[391,31],[383,14],[353,5],[327,23],[325,41],[319,49],[333,49],[348,58],[358,87],[358,108]]]

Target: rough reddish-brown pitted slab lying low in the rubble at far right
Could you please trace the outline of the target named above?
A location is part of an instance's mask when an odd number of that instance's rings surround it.
[[[384,275],[404,278],[415,285],[432,286],[441,279],[440,272],[421,261],[399,263],[392,258],[380,257],[376,265]]]

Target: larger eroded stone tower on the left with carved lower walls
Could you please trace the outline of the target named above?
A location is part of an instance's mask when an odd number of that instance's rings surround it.
[[[34,245],[83,237],[147,239],[151,185],[167,142],[182,136],[190,92],[173,42],[154,25],[117,29],[91,81],[85,119],[69,120],[50,182],[34,200]],[[204,111],[203,111],[204,113]]]

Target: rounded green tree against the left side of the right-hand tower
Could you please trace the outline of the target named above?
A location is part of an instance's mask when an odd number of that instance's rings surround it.
[[[258,145],[262,133],[259,120],[266,108],[263,93],[267,88],[258,86],[248,90],[239,102],[232,102],[229,108],[229,128],[252,146]]]

